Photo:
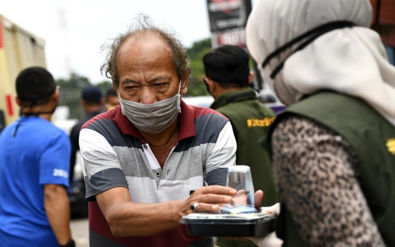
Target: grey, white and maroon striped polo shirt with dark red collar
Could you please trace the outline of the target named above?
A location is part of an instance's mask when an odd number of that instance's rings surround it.
[[[210,238],[188,236],[183,225],[149,237],[115,238],[95,202],[96,194],[114,187],[128,188],[133,202],[155,204],[185,199],[204,185],[225,185],[227,167],[236,163],[236,140],[229,120],[212,109],[181,101],[178,121],[178,143],[163,169],[120,107],[82,127],[79,145],[90,201],[91,246],[212,245]]]

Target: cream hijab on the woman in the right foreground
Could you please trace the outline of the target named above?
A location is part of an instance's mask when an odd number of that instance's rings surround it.
[[[291,49],[261,64],[282,44],[322,24],[349,20],[358,27],[328,32],[288,57],[274,81],[272,70]],[[320,89],[362,98],[395,126],[395,67],[379,35],[369,29],[369,0],[257,0],[246,26],[247,48],[265,82],[285,105]]]

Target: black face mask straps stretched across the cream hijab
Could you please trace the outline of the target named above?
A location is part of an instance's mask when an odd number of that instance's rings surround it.
[[[353,26],[356,26],[356,24],[354,24],[351,21],[334,21],[334,22],[329,22],[329,23],[323,24],[321,26],[318,26],[318,27],[316,27],[316,28],[314,28],[314,29],[312,29],[310,31],[307,31],[306,33],[304,33],[302,35],[299,35],[298,37],[294,38],[293,40],[286,42],[285,44],[283,44],[280,47],[278,47],[275,51],[270,53],[266,57],[266,59],[262,62],[262,68],[265,68],[265,66],[269,64],[270,60],[272,60],[274,57],[278,56],[285,49],[287,49],[287,48],[291,47],[292,45],[294,45],[294,44],[306,39],[301,44],[299,44],[296,47],[296,49],[294,49],[284,60],[282,60],[276,66],[276,68],[270,74],[270,77],[272,79],[274,79],[276,77],[276,75],[278,74],[278,72],[281,71],[282,67],[284,66],[285,61],[293,53],[297,52],[298,50],[303,49],[308,44],[313,42],[316,38],[318,38],[319,36],[321,36],[321,35],[323,35],[325,33],[328,33],[328,32],[330,32],[332,30],[339,29],[339,28],[346,28],[346,27],[353,27]]]

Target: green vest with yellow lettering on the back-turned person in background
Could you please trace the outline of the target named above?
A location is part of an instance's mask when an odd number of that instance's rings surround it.
[[[236,164],[251,167],[254,190],[265,195],[261,206],[272,206],[278,202],[273,166],[269,154],[259,145],[266,136],[276,114],[260,103],[252,88],[228,92],[215,99],[210,108],[222,113],[231,121],[237,140]],[[221,247],[256,247],[250,241],[218,239]]]

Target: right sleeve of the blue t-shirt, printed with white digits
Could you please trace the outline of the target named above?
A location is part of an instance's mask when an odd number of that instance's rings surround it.
[[[57,130],[42,146],[40,184],[69,186],[71,144],[67,134]]]

